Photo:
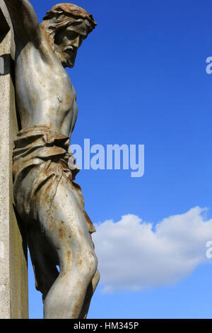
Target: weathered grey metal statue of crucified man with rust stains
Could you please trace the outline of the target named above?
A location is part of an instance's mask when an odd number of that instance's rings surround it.
[[[44,318],[86,318],[99,281],[78,169],[68,160],[78,109],[65,67],[95,28],[93,16],[58,4],[39,26],[28,0],[4,0],[16,42],[16,105],[20,132],[14,142],[16,210],[28,231],[36,288]],[[59,265],[59,271],[57,266]]]

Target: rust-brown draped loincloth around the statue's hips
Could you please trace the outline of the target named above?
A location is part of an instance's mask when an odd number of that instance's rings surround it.
[[[53,132],[47,125],[33,125],[18,132],[13,150],[13,193],[16,209],[20,218],[26,222],[36,222],[40,207],[38,201],[46,198],[45,204],[50,206],[57,186],[64,177],[71,189],[78,193],[88,230],[92,233],[95,232],[95,227],[84,210],[81,187],[73,181],[79,169],[73,159],[70,159],[69,143],[69,137]],[[41,196],[37,196],[38,191]]]

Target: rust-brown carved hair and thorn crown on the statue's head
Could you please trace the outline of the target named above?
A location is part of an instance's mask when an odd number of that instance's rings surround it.
[[[88,33],[91,33],[95,26],[97,26],[91,14],[88,14],[85,9],[74,4],[57,4],[52,7],[51,11],[47,11],[43,20],[40,26],[47,30],[47,34],[52,40],[54,40],[57,30],[61,28],[78,26],[85,22],[88,27]]]

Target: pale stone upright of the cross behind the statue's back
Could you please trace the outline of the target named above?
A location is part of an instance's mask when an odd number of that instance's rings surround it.
[[[25,230],[13,206],[12,152],[18,132],[14,55],[11,20],[0,0],[0,319],[28,318]]]

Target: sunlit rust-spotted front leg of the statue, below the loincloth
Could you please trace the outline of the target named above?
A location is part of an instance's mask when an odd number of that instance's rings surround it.
[[[43,188],[44,192],[45,187]],[[40,196],[40,227],[57,251],[60,272],[44,302],[45,319],[81,317],[88,286],[97,271],[97,258],[76,188],[64,177],[50,208]]]

